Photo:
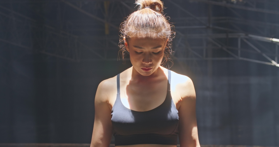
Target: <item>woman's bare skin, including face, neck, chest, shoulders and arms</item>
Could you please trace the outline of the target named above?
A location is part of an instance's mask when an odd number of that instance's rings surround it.
[[[125,40],[125,38],[124,38]],[[168,71],[160,66],[167,40],[129,38],[125,46],[132,67],[120,73],[120,99],[125,107],[148,111],[161,105],[167,93]],[[142,68],[152,68],[144,71]],[[90,147],[109,147],[111,110],[117,96],[117,76],[102,81],[95,96],[95,120]],[[171,71],[171,96],[179,115],[181,147],[200,147],[197,134],[196,94],[192,80]],[[123,145],[116,147],[176,147],[176,145]]]

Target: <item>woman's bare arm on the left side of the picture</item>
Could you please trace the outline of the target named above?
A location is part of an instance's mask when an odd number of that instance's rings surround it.
[[[111,82],[102,81],[95,96],[95,119],[90,147],[108,147],[112,135],[111,110],[108,105],[108,93]]]

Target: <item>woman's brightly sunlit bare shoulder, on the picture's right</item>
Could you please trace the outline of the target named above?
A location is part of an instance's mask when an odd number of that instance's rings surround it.
[[[188,76],[171,71],[171,86],[173,91],[180,93],[181,98],[196,97],[193,81]]]

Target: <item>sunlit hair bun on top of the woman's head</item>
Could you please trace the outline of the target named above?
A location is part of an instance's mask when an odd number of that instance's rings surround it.
[[[163,2],[160,0],[137,0],[136,4],[137,6],[139,5],[138,10],[149,7],[156,12],[162,13],[164,8]]]

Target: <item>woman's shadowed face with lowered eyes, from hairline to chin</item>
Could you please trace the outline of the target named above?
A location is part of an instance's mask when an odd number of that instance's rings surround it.
[[[149,76],[160,66],[167,40],[162,38],[129,38],[125,42],[134,69],[143,76]]]

